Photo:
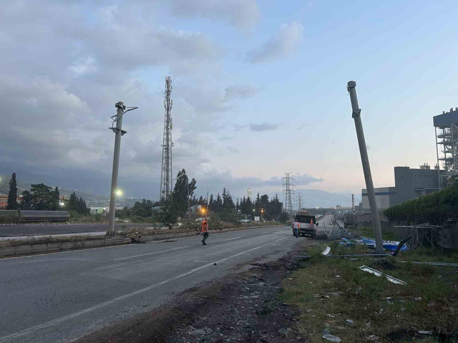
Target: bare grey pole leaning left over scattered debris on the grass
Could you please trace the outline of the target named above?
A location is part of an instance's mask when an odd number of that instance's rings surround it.
[[[358,145],[360,146],[361,163],[363,165],[364,178],[366,181],[367,197],[369,198],[369,207],[371,208],[372,222],[374,223],[376,254],[383,254],[382,227],[380,226],[380,217],[378,215],[377,204],[375,201],[374,182],[372,182],[371,166],[369,165],[363,124],[361,122],[361,109],[358,105],[355,87],[355,81],[349,81],[347,83],[347,90],[350,93],[351,107],[353,110],[352,118],[354,119],[356,135],[358,136]]]

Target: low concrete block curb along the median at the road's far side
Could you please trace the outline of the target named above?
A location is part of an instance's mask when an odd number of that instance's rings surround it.
[[[238,227],[227,228],[222,230],[208,230],[211,233],[222,233],[230,231],[244,231],[250,230],[253,228],[257,229],[268,229],[270,227],[281,227],[285,225],[266,225],[266,226],[246,226],[243,229]],[[151,242],[151,241],[161,241],[164,239],[173,239],[173,238],[182,238],[196,236],[196,231],[187,231],[187,232],[177,232],[177,233],[168,233],[160,235],[143,235],[140,236],[142,242]],[[0,257],[2,256],[12,256],[12,255],[22,255],[22,254],[31,254],[38,252],[53,252],[58,250],[69,250],[69,249],[84,249],[92,247],[105,247],[105,246],[115,246],[128,244],[130,241],[126,241],[123,237],[107,238],[107,239],[97,239],[93,241],[73,241],[73,242],[62,242],[62,243],[48,243],[48,244],[36,244],[36,245],[22,245],[17,247],[1,247],[0,248]]]

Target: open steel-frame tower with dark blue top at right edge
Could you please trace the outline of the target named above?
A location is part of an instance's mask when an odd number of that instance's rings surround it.
[[[458,175],[458,107],[433,117],[433,124],[436,131],[437,165],[441,163],[443,169],[437,177],[440,180],[439,189],[443,189],[451,186],[452,178]]]

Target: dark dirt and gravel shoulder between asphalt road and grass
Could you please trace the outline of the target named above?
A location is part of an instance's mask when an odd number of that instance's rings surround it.
[[[295,256],[307,244],[315,243],[301,240],[278,261],[253,262],[248,270],[188,289],[165,305],[76,342],[307,342],[296,329],[300,310],[277,300],[281,280],[300,267]]]

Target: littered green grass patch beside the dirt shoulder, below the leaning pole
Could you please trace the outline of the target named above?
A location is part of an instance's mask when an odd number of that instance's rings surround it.
[[[336,254],[336,249],[342,248],[333,246],[331,252]],[[320,257],[323,250],[309,247],[305,255],[312,258],[306,268],[290,275],[293,280],[284,280],[284,292],[278,295],[280,301],[303,310],[299,329],[310,342],[324,342],[323,329],[342,342],[366,343],[371,335],[378,342],[438,342],[439,335],[447,338],[458,332],[456,267],[399,263],[396,257],[376,260],[370,255],[356,261]],[[353,253],[348,248],[346,252]],[[363,264],[407,285],[363,272],[359,269]],[[432,330],[434,335],[425,337],[418,330]],[[448,341],[454,342],[453,338]]]

